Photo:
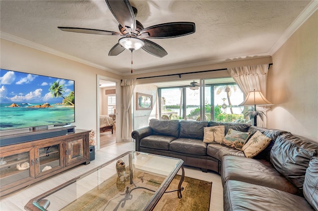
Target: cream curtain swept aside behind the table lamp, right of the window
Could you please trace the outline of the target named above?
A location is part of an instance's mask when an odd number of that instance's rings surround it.
[[[245,96],[255,89],[260,90],[266,98],[268,64],[228,68],[228,71]],[[264,106],[257,106],[256,109],[266,114]],[[266,127],[266,116],[263,120],[257,118],[257,126]]]

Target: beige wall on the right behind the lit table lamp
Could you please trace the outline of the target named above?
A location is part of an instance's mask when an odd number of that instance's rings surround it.
[[[318,142],[318,12],[273,55],[266,97],[268,128]]]

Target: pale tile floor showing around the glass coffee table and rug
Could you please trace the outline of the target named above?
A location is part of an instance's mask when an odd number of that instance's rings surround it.
[[[115,143],[103,149],[100,149],[95,154],[95,160],[91,161],[88,165],[79,165],[58,175],[52,176],[43,181],[32,184],[23,190],[14,192],[8,196],[0,198],[0,211],[23,211],[24,205],[26,205],[26,203],[30,199],[82,173],[85,173],[86,171],[112,158],[115,158],[127,151],[132,150],[135,150],[135,143],[131,142]],[[184,170],[185,176],[213,182],[210,211],[223,211],[223,188],[221,184],[220,175],[212,171],[204,173],[199,168],[193,168],[188,166],[185,166]]]

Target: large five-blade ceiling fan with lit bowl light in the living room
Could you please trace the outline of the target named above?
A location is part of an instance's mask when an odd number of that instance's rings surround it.
[[[195,32],[195,23],[193,22],[170,22],[144,28],[144,26],[135,19],[137,9],[131,6],[128,0],[105,1],[110,11],[119,22],[118,27],[120,32],[62,26],[59,26],[58,28],[68,32],[121,36],[122,38],[119,39],[118,43],[109,51],[109,56],[118,55],[125,49],[133,52],[142,48],[148,53],[163,57],[167,55],[167,52],[158,44],[145,38],[175,38]]]

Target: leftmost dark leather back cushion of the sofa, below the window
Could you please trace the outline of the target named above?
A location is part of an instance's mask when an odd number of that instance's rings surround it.
[[[149,126],[154,134],[179,137],[179,120],[151,119]]]

